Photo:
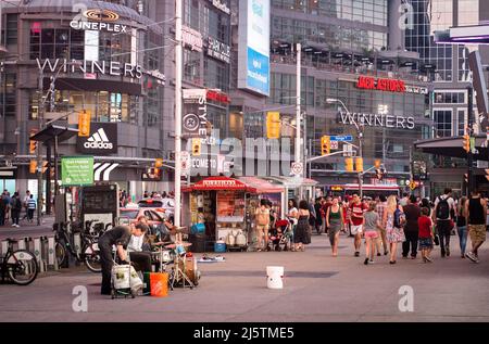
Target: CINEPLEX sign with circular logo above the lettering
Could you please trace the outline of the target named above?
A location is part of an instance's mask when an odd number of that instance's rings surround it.
[[[113,11],[91,9],[77,14],[70,26],[79,30],[127,33],[127,25],[114,24],[120,15]]]

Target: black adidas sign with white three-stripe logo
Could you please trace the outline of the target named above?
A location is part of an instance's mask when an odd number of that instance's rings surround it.
[[[79,153],[95,155],[117,153],[117,125],[115,123],[91,123],[90,135],[77,138],[76,150]]]

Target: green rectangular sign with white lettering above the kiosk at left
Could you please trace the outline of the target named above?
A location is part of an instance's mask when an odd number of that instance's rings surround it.
[[[64,187],[93,183],[93,156],[62,156],[61,182]]]

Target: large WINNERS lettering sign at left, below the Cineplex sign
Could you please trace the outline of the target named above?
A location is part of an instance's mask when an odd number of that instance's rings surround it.
[[[53,60],[54,62],[46,59],[42,63],[39,59],[36,59],[36,61],[39,69],[51,73],[58,73],[61,69],[63,73],[100,73],[103,75],[125,76],[138,79],[142,77],[143,73],[142,67],[139,65],[134,66],[130,63],[121,63],[117,61],[79,61],[66,59],[55,59]]]

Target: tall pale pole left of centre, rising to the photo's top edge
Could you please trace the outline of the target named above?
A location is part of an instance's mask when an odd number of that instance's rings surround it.
[[[181,2],[175,1],[175,226],[180,226],[181,203]]]

